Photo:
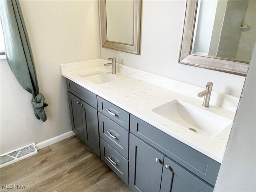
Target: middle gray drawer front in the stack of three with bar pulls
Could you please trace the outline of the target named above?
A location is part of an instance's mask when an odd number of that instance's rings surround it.
[[[100,137],[128,159],[129,132],[98,112]]]

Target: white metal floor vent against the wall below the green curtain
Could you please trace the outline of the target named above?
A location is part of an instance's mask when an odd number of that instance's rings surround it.
[[[0,168],[10,165],[14,162],[37,154],[36,145],[34,143],[18,148],[0,156]]]

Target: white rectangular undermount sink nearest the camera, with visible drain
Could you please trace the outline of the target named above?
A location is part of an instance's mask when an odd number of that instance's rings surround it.
[[[214,138],[232,123],[230,119],[178,100],[172,100],[152,111],[208,138]]]

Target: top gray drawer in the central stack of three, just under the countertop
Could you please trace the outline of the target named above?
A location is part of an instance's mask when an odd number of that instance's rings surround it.
[[[100,98],[98,96],[98,110],[122,126],[123,128],[129,130],[129,113],[122,110],[121,108],[113,105],[112,103]]]

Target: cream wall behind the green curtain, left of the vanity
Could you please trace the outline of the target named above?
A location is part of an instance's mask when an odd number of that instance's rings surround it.
[[[37,120],[6,60],[1,60],[1,154],[71,130],[60,64],[100,58],[97,1],[20,1],[47,121]]]

